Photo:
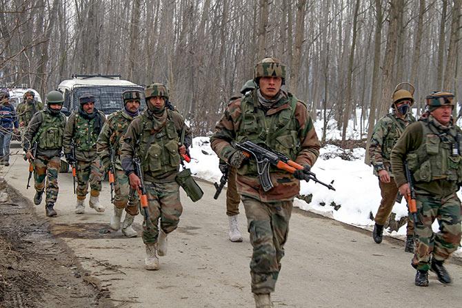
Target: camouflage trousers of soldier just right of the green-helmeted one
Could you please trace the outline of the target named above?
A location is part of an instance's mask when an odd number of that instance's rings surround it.
[[[85,199],[88,194],[88,184],[91,188],[90,195],[99,196],[101,176],[103,176],[103,170],[99,156],[93,161],[77,161],[77,199]]]

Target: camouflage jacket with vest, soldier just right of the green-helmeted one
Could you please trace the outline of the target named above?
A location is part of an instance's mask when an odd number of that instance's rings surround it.
[[[99,112],[101,116],[101,128],[106,122],[106,116],[103,112]],[[75,156],[78,161],[93,161],[97,157],[97,139],[99,132],[94,129],[94,121],[97,117],[88,120],[83,118],[79,112],[72,112],[69,116],[68,123],[64,130],[63,149],[64,154],[71,154],[70,145],[73,142],[75,146]]]

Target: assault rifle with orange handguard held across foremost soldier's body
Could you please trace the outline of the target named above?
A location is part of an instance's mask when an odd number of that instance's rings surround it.
[[[278,169],[285,170],[293,174],[295,170],[303,170],[303,166],[291,161],[287,156],[279,152],[273,152],[272,150],[267,150],[264,147],[256,145],[252,141],[245,141],[243,143],[236,143],[236,148],[243,151],[245,156],[252,156],[255,161],[257,161],[257,172],[259,174],[259,180],[261,187],[265,192],[272,189],[274,185],[271,182],[270,178],[270,165],[274,165]],[[314,181],[328,189],[335,190],[332,186],[332,181],[330,184],[323,183],[318,180],[316,174],[310,171],[303,170],[303,180],[305,181]]]

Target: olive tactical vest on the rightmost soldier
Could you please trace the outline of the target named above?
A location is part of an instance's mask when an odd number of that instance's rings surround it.
[[[460,139],[461,133],[455,127],[451,127],[449,134],[452,136],[443,135],[435,127],[431,130],[428,121],[421,121],[421,123],[423,141],[417,150],[408,154],[408,167],[415,181],[446,180],[460,183],[462,147],[460,141],[458,143],[456,139]]]

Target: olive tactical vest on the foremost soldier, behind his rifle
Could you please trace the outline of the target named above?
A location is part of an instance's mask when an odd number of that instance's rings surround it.
[[[236,142],[252,141],[263,144],[294,161],[300,148],[298,121],[294,117],[297,99],[290,93],[288,96],[285,102],[288,106],[285,109],[268,115],[258,107],[257,94],[254,91],[247,94],[241,101],[241,124],[236,133]],[[270,171],[277,169],[271,168]],[[239,169],[239,174],[257,174],[257,163],[251,159],[249,164]]]

